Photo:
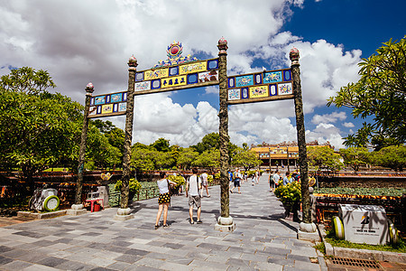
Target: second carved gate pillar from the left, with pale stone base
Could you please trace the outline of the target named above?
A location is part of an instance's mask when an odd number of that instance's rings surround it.
[[[127,90],[127,111],[125,116],[125,146],[123,152],[123,176],[121,178],[121,201],[120,208],[117,210],[115,220],[131,220],[134,215],[130,214],[131,209],[128,208],[128,196],[130,193],[130,159],[131,159],[131,144],[133,139],[133,121],[134,121],[134,84],[135,72],[137,70],[137,60],[134,56],[128,61],[128,90]]]

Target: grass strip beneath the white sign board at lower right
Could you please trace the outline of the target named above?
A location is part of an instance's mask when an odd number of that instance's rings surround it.
[[[399,243],[396,245],[369,245],[369,244],[357,244],[346,240],[337,239],[332,230],[326,230],[327,236],[326,241],[333,247],[339,248],[356,248],[356,249],[369,249],[369,250],[380,250],[380,251],[391,251],[406,253],[406,245],[404,240],[400,239]],[[323,244],[324,246],[324,244]],[[326,248],[325,248],[326,249]],[[320,250],[321,251],[321,250]]]

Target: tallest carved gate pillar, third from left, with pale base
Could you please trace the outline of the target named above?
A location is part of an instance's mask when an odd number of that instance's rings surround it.
[[[228,109],[227,109],[227,41],[221,38],[218,41],[218,81],[220,92],[220,110],[218,112],[220,135],[220,216],[217,219],[215,229],[221,231],[233,231],[235,224],[230,217],[229,210],[229,181],[228,181]]]

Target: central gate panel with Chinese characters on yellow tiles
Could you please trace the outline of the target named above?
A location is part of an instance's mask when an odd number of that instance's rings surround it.
[[[211,85],[218,85],[218,59],[137,71],[134,95]]]

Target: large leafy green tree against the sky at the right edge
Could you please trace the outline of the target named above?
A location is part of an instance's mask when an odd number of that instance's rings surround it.
[[[406,38],[406,36],[405,36]],[[349,83],[328,99],[328,106],[352,108],[354,117],[374,117],[364,122],[355,135],[345,139],[347,146],[366,146],[370,142],[403,144],[406,140],[406,39],[384,42],[368,59],[359,63],[356,83]]]

